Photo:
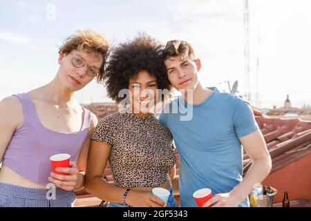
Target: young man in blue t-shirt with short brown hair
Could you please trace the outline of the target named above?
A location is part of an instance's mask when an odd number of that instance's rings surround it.
[[[192,194],[209,188],[204,206],[249,206],[247,196],[270,173],[272,162],[252,108],[243,99],[198,81],[200,59],[186,41],[168,41],[167,75],[182,96],[159,117],[170,129],[180,155],[180,206],[196,206]],[[253,161],[243,175],[243,148]]]

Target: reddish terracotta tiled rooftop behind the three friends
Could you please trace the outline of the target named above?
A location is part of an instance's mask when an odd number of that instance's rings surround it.
[[[256,108],[253,111],[272,157],[272,171],[263,184],[278,190],[274,206],[281,206],[283,191],[288,191],[292,206],[311,206],[311,121],[299,117],[269,116]],[[177,151],[176,156],[179,159]],[[245,153],[243,175],[251,165],[252,162]],[[104,171],[104,178],[113,182],[109,164]],[[101,202],[85,191],[80,194],[82,197],[79,197],[76,206],[97,206]],[[175,197],[179,202],[178,193]]]

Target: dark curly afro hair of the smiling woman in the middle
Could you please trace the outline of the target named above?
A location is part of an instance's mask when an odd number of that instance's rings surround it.
[[[133,41],[117,46],[106,66],[104,81],[111,99],[120,103],[124,97],[118,97],[119,91],[129,88],[129,80],[141,70],[146,70],[156,78],[158,89],[171,89],[167,78],[167,69],[162,58],[164,46],[149,35],[140,34]],[[162,95],[162,101],[165,99]]]

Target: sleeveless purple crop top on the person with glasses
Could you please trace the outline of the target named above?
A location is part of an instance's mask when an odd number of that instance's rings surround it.
[[[84,108],[81,131],[59,133],[41,124],[35,106],[26,93],[15,96],[23,106],[23,122],[12,135],[2,166],[7,166],[27,180],[46,186],[52,172],[51,155],[68,153],[71,161],[77,161],[79,151],[88,137],[91,113]]]

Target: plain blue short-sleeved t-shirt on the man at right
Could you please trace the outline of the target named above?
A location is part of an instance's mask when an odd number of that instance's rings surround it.
[[[180,155],[182,207],[197,206],[192,194],[198,189],[209,188],[213,195],[228,193],[241,182],[243,148],[239,138],[258,130],[247,102],[216,88],[211,90],[214,93],[198,105],[177,97],[159,116],[171,131]],[[249,206],[248,198],[240,206]]]

